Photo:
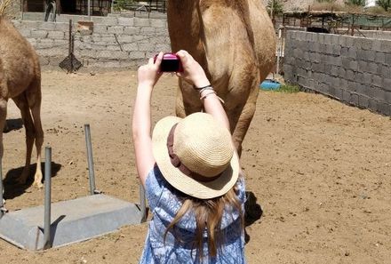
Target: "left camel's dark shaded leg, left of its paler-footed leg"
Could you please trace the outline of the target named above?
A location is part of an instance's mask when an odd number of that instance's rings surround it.
[[[33,150],[34,139],[35,139],[35,128],[33,119],[31,118],[30,111],[28,108],[28,101],[26,98],[26,92],[22,92],[16,98],[12,98],[16,106],[20,108],[21,118],[26,130],[26,163],[23,171],[21,172],[20,177],[17,179],[17,182],[20,184],[25,184],[28,180],[28,175],[30,172],[30,163],[31,163],[31,153]]]

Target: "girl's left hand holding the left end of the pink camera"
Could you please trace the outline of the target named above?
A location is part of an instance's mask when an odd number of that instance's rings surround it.
[[[162,73],[159,71],[162,59],[163,52],[160,52],[155,62],[154,58],[150,58],[148,64],[140,66],[137,73],[139,87],[150,87],[152,89],[155,86],[157,80],[162,76]]]

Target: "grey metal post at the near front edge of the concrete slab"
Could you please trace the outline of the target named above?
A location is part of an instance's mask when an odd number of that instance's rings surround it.
[[[39,164],[36,164],[37,166]],[[44,249],[52,247],[51,242],[51,203],[52,203],[52,148],[45,148],[44,161]]]

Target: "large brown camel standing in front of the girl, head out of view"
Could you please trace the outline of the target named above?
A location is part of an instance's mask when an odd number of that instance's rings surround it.
[[[205,69],[221,99],[240,154],[255,112],[259,83],[275,64],[275,29],[259,0],[169,0],[172,51],[187,50]],[[186,96],[183,96],[186,94]],[[203,108],[180,80],[177,116]]]

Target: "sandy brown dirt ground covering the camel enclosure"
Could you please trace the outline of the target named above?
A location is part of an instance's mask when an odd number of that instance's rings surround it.
[[[97,188],[138,202],[132,153],[134,71],[43,73],[44,146],[52,147],[52,202],[88,195],[84,124],[91,124]],[[163,76],[153,122],[174,113],[175,76]],[[9,102],[6,180],[24,164],[24,129]],[[248,263],[391,263],[391,120],[322,95],[260,92],[243,144],[247,189],[263,210],[246,231]],[[44,155],[44,150],[43,150]],[[33,159],[33,164],[35,160]],[[5,185],[10,211],[44,191]],[[257,206],[253,207],[257,208]],[[28,252],[0,240],[1,263],[137,263],[147,223],[84,243]]]

